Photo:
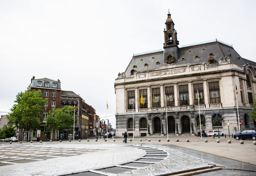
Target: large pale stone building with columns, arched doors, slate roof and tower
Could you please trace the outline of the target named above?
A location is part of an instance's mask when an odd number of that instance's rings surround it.
[[[179,48],[171,14],[167,17],[164,51],[135,54],[116,78],[116,135],[128,131],[132,136],[133,126],[134,137],[163,136],[167,128],[171,136],[198,135],[199,119],[206,132],[219,126],[228,134],[230,123],[230,134],[238,133],[236,86],[241,130],[255,129],[249,113],[256,93],[256,63],[217,39]]]

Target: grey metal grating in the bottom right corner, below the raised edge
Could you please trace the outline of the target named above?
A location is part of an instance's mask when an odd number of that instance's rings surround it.
[[[219,171],[196,174],[195,176],[255,176],[256,172],[221,169]]]

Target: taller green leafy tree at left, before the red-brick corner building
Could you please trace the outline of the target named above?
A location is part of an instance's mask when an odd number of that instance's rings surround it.
[[[41,124],[39,119],[43,117],[40,113],[44,111],[42,107],[48,102],[48,98],[43,99],[42,96],[40,90],[19,92],[16,95],[15,104],[10,109],[11,113],[7,116],[9,122],[17,128],[28,131],[39,128]],[[31,132],[29,139],[31,139]]]

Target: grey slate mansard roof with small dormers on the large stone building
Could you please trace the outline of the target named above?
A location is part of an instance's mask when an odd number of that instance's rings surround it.
[[[213,56],[209,56],[210,53],[212,53]],[[196,55],[199,56],[199,58],[195,59]],[[235,63],[242,66],[246,65],[248,62],[249,64],[253,65],[253,68],[256,68],[255,62],[242,58],[232,46],[228,46],[219,41],[215,41],[205,44],[178,48],[178,57],[174,57],[174,62],[171,65],[166,64],[164,51],[133,56],[130,64],[128,65],[124,73],[125,77],[132,77],[132,69],[134,69],[135,72],[143,72],[158,68],[172,68],[178,65],[202,62],[206,63],[206,67],[214,66],[219,65],[219,59],[221,57],[225,58],[226,56],[230,59],[230,63]],[[181,60],[182,58],[185,58],[185,60]],[[214,58],[215,63],[209,64],[209,58]],[[160,62],[160,64],[156,64],[156,62]],[[144,64],[146,63],[148,64],[148,66],[144,66]],[[133,68],[133,66],[136,66],[136,68]]]

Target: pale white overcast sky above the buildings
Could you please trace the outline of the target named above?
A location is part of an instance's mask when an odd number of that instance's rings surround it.
[[[217,38],[255,58],[256,1],[0,0],[0,115],[31,78],[60,79],[116,126],[118,73],[133,53],[163,49],[168,9],[179,47]],[[105,119],[105,118],[104,118]]]

